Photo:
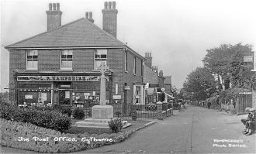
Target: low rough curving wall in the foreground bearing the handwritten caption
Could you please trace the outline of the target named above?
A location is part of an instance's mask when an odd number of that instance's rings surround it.
[[[75,152],[122,142],[133,132],[140,129],[137,128],[129,132],[119,132],[110,135],[89,135],[88,133],[65,134],[55,130],[37,127],[30,123],[7,121],[2,118],[0,118],[0,125],[1,145],[48,153]]]

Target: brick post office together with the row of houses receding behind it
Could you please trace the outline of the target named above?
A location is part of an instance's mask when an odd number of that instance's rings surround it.
[[[157,101],[165,87],[171,93],[171,76],[152,66],[151,53],[141,56],[116,39],[116,2],[105,2],[102,29],[92,12],[61,25],[59,3],[47,10],[47,31],[5,46],[9,50],[10,101],[17,104],[97,104],[100,72],[106,72],[109,104],[147,104]],[[148,95],[154,95],[152,100]],[[126,109],[127,111],[129,108]]]

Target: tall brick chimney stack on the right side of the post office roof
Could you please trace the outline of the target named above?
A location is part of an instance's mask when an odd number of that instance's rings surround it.
[[[116,2],[104,2],[102,29],[116,38],[117,30],[117,9]]]

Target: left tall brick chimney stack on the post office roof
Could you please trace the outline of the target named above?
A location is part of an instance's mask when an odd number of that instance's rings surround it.
[[[49,3],[49,10],[47,11],[47,31],[57,29],[61,26],[60,3]]]

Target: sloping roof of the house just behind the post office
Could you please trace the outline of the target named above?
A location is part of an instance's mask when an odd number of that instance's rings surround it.
[[[144,83],[158,84],[158,74],[144,65]]]

